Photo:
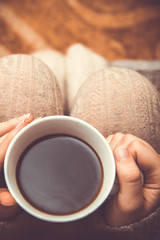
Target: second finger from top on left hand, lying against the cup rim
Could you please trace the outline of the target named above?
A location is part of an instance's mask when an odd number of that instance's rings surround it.
[[[12,141],[12,139],[15,137],[15,135],[24,128],[28,123],[23,120],[21,123],[19,123],[16,128],[14,128],[12,131],[10,131],[6,138],[0,143],[0,170],[3,167],[4,157],[7,151],[7,148]]]

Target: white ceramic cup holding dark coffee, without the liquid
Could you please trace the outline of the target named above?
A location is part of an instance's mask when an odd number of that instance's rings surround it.
[[[23,151],[33,141],[51,134],[71,135],[87,143],[99,156],[103,169],[102,186],[97,197],[86,208],[69,215],[53,215],[36,209],[24,198],[17,184],[16,168]],[[93,126],[74,117],[49,116],[33,121],[14,137],[5,156],[4,173],[10,193],[26,212],[46,221],[68,222],[91,214],[107,199],[114,185],[116,168],[106,139]]]

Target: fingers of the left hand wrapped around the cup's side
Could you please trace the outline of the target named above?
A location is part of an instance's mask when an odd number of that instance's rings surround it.
[[[0,172],[3,169],[5,154],[10,142],[15,135],[28,123],[32,122],[32,120],[33,116],[29,113],[19,118],[13,118],[7,122],[0,123]],[[8,214],[7,207],[15,204],[16,202],[7,188],[0,188],[0,219],[2,217],[5,218],[5,214]],[[9,212],[9,215],[10,214]]]

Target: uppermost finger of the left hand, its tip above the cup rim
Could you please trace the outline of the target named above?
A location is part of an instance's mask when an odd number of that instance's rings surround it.
[[[0,123],[0,136],[5,135],[6,133],[10,132],[13,128],[17,126],[22,120],[26,122],[31,122],[33,120],[33,115],[31,113],[25,114],[19,118],[13,118],[6,122]]]

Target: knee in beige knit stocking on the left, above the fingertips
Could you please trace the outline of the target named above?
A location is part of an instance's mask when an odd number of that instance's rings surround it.
[[[63,114],[61,92],[53,72],[29,55],[0,59],[0,122],[31,112],[33,116]]]

